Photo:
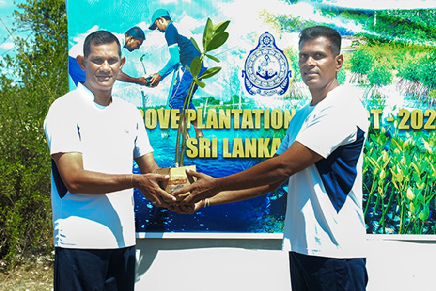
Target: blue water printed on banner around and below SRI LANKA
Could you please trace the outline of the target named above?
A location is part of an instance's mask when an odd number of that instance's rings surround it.
[[[263,130],[262,130],[263,131]],[[274,129],[265,132],[273,134]],[[258,158],[222,157],[222,139],[229,138],[229,152],[234,138],[258,136],[259,129],[204,129],[205,138],[218,138],[218,158],[186,158],[185,165],[195,164],[197,171],[213,177],[231,175],[263,161]],[[174,166],[176,129],[148,130],[154,148],[156,162],[161,167]],[[190,129],[191,136],[195,136]],[[135,173],[139,173],[135,165]],[[287,183],[275,193],[269,193],[246,201],[214,205],[202,208],[193,215],[171,212],[153,205],[135,189],[135,216],[137,232],[281,232],[286,208]]]

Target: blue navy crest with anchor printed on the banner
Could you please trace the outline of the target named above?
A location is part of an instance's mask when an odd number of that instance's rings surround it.
[[[288,89],[292,71],[271,33],[265,32],[259,37],[257,47],[245,60],[242,77],[251,95],[283,95]]]

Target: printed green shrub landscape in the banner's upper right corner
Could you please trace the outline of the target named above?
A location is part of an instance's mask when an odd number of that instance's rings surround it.
[[[351,60],[353,72],[368,74],[373,85],[387,85],[396,74],[404,80],[399,83],[401,91],[417,99],[429,99],[426,102],[432,104],[429,92],[436,88],[436,49],[431,45],[436,38],[435,9],[336,13],[366,30],[354,36],[363,41],[358,42]]]

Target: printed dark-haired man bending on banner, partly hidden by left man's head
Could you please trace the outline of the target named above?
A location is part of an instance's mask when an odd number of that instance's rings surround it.
[[[145,40],[145,34],[140,27],[134,26],[124,33],[123,39],[121,39],[120,36],[119,38],[117,37],[117,40],[118,43],[120,43],[120,54],[121,54],[121,44],[123,42],[124,42],[124,46],[122,47],[129,52],[133,52],[134,50],[140,49],[140,46]],[[78,65],[78,62],[76,60],[76,57],[80,54],[79,49],[81,50],[82,47],[83,45],[78,43],[75,47],[70,49],[68,55],[68,72],[76,86],[79,82],[85,81],[86,78],[86,72],[80,68],[80,65]],[[117,80],[128,82],[128,83],[135,83],[139,85],[149,84],[144,76],[138,78],[132,77],[122,70],[118,74]]]

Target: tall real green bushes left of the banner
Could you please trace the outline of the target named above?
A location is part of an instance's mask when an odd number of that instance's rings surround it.
[[[15,12],[20,50],[0,76],[0,259],[52,247],[50,158],[43,122],[52,101],[68,92],[65,1],[28,0]],[[11,29],[11,28],[9,28]]]

